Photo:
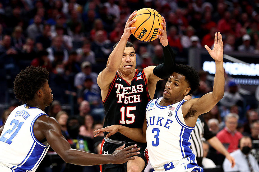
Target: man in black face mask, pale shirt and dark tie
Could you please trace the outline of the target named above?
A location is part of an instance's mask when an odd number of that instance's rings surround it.
[[[225,172],[229,171],[259,171],[258,163],[250,154],[252,148],[251,138],[248,136],[243,136],[239,141],[240,149],[234,151],[230,155],[235,159],[235,166],[232,168],[228,159],[224,160],[223,170]]]

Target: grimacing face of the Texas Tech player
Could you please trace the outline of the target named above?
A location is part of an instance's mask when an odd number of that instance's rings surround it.
[[[124,73],[131,73],[136,68],[136,53],[133,47],[126,47],[120,66],[120,70]]]

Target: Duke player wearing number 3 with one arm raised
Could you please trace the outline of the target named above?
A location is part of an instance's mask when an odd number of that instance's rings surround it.
[[[146,108],[146,122],[142,129],[112,125],[96,130],[98,135],[107,131],[110,135],[120,132],[138,141],[147,142],[150,164],[155,171],[203,171],[196,163],[190,149],[191,132],[197,118],[212,109],[224,95],[223,42],[221,34],[215,33],[213,50],[205,46],[215,60],[216,73],[213,91],[201,98],[185,100],[199,86],[199,78],[194,68],[176,65],[169,77],[163,97],[151,100]],[[234,159],[228,157],[232,166]]]

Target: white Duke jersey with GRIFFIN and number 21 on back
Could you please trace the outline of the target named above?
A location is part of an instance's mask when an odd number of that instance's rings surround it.
[[[37,169],[49,149],[48,143],[40,143],[33,133],[34,122],[41,115],[46,114],[26,104],[11,112],[0,137],[0,165],[19,172]]]

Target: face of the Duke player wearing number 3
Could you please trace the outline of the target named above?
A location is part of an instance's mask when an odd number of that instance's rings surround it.
[[[191,90],[189,84],[185,81],[185,76],[174,72],[169,76],[165,84],[163,97],[166,100],[182,99]]]

